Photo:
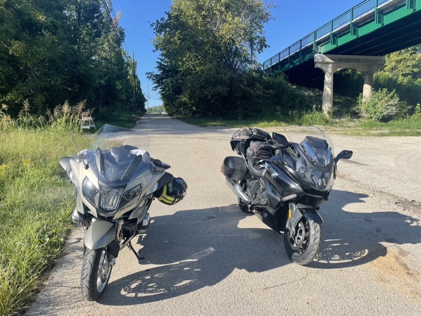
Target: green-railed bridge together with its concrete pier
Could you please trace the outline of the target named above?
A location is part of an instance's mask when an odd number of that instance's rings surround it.
[[[372,75],[384,55],[421,44],[421,0],[365,0],[284,49],[263,64],[290,81],[325,73],[323,110],[332,111],[333,73],[356,69],[365,76],[363,96],[371,94]]]

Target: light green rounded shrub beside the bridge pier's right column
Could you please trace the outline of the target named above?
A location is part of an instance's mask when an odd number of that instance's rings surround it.
[[[364,119],[377,122],[400,119],[408,114],[406,103],[399,101],[395,90],[389,92],[387,89],[373,91],[368,100],[363,100],[360,94],[356,110]]]

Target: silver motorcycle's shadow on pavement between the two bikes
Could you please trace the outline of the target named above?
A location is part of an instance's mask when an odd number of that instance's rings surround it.
[[[235,269],[262,272],[291,264],[281,236],[238,205],[152,219],[148,234],[138,241],[145,257],[139,271],[110,281],[101,304],[150,303],[215,285]],[[244,273],[235,275],[240,275],[236,286],[247,286]]]

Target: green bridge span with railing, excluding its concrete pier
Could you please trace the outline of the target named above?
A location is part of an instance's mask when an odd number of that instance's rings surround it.
[[[421,0],[366,0],[274,57],[286,71],[316,54],[382,56],[421,43]]]

